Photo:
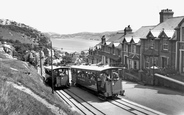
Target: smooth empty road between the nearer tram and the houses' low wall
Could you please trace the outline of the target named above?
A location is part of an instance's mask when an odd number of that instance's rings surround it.
[[[125,90],[123,99],[167,115],[184,115],[184,92],[129,81],[122,83]]]

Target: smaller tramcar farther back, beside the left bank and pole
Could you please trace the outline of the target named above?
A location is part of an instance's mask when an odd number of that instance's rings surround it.
[[[70,87],[70,67],[67,66],[46,66],[45,73],[48,75],[45,83],[52,86],[52,77],[54,79],[54,88]],[[53,73],[52,73],[53,72]]]

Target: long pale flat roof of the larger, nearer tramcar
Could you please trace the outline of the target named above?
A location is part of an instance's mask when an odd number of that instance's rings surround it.
[[[123,67],[87,66],[87,65],[71,66],[71,68],[82,69],[82,70],[90,70],[90,71],[104,71],[104,70],[109,70],[109,69],[123,69]]]

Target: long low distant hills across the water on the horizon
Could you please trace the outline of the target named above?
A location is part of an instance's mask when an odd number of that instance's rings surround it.
[[[100,41],[101,37],[103,35],[106,35],[107,39],[111,36],[114,36],[117,32],[102,32],[102,33],[92,33],[92,32],[80,32],[80,33],[74,33],[74,34],[58,34],[58,33],[44,33],[46,36],[48,36],[51,39],[69,39],[69,38],[75,38],[75,39],[86,39],[86,40],[97,40]]]

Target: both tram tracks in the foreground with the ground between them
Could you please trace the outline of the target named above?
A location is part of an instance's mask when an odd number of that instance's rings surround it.
[[[163,115],[158,111],[145,108],[136,103],[131,103],[121,97],[108,99],[103,102],[98,100],[99,102],[96,103],[90,102],[89,100],[87,101],[80,92],[77,93],[77,91],[74,90],[65,89],[56,92],[69,107],[74,107],[75,110],[82,115],[113,115],[113,111],[116,112],[114,114],[118,113],[119,115]],[[84,92],[88,93],[87,91]]]

